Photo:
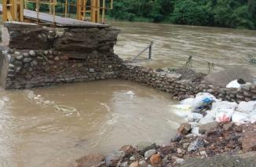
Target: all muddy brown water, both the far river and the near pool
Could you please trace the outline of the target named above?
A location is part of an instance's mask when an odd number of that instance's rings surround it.
[[[256,31],[166,24],[111,22],[122,32],[115,53],[129,60],[155,42],[151,61],[181,67],[189,55],[196,71],[243,66],[256,73]],[[178,51],[178,52],[177,52]],[[68,166],[83,155],[107,154],[124,144],[165,144],[183,122],[170,110],[168,93],[133,82],[109,80],[30,90],[0,90],[0,166]]]

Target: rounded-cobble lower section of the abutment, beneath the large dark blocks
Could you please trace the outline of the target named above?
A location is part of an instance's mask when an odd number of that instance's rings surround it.
[[[56,50],[9,51],[5,89],[117,78],[122,60],[115,54],[94,51],[83,54],[82,59],[75,55]]]

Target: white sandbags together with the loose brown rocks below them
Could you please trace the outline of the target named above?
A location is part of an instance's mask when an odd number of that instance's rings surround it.
[[[218,100],[210,93],[198,93],[175,107],[181,109],[177,113],[188,122],[181,124],[169,145],[126,145],[106,157],[90,154],[73,165],[177,166],[186,163],[188,158],[256,151],[256,101],[237,104]]]

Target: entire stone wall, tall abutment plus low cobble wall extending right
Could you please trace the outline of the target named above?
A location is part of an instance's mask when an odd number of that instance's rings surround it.
[[[5,27],[10,36],[9,49],[0,55],[5,89],[122,78],[163,90],[174,100],[200,92],[228,101],[256,100],[254,84],[227,89],[205,82],[205,74],[189,69],[159,71],[125,64],[113,49],[119,30],[109,26],[59,30],[38,24],[6,23]]]

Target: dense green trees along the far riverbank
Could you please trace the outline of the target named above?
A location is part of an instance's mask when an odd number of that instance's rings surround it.
[[[129,21],[255,29],[256,0],[115,0],[108,16]]]

